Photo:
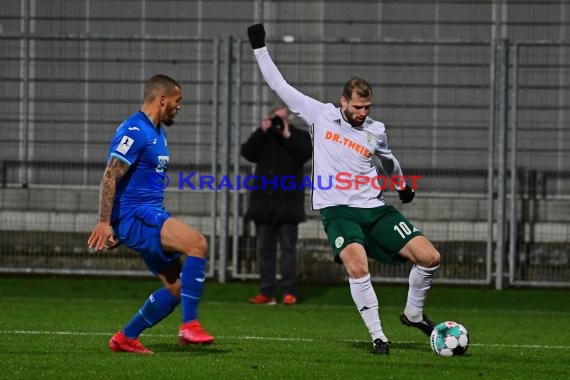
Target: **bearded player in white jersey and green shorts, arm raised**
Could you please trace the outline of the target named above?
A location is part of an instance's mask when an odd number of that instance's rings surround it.
[[[319,102],[292,87],[281,75],[265,46],[263,24],[248,28],[248,37],[263,78],[289,109],[311,126],[313,183],[341,178],[333,186],[315,186],[312,207],[321,221],[335,261],[349,277],[350,292],[372,337],[372,352],[388,354],[390,341],[382,329],[378,299],[370,282],[368,257],[387,263],[412,262],[408,298],[400,321],[430,335],[434,323],[423,313],[427,292],[440,254],[398,210],[384,203],[379,171],[403,179],[402,169],[388,147],[384,124],[368,114],[372,88],[363,79],[350,79],[341,106]],[[400,200],[411,202],[414,190],[397,184]]]

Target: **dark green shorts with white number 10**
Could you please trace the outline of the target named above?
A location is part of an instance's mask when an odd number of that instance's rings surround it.
[[[321,209],[321,221],[329,243],[338,255],[350,243],[359,243],[368,257],[389,264],[407,261],[398,254],[412,238],[422,235],[391,205],[375,208],[332,206]]]

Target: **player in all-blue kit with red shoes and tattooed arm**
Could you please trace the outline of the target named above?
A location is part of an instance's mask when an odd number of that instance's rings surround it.
[[[107,155],[99,195],[99,222],[87,244],[96,250],[123,244],[140,253],[161,280],[133,318],[109,341],[116,352],[152,354],[138,337],[166,318],[180,303],[181,344],[209,344],[214,337],[198,322],[197,309],[205,281],[207,243],[194,228],[170,216],[157,186],[168,167],[165,126],[180,111],[182,89],[158,74],[144,88],[140,111],[116,130]]]

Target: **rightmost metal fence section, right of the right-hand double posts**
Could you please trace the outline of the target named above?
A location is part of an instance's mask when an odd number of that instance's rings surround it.
[[[533,41],[510,47],[508,282],[567,286],[570,43]],[[539,101],[536,92],[542,94]]]

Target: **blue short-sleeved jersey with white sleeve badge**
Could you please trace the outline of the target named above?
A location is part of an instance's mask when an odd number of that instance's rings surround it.
[[[156,185],[160,173],[168,168],[166,131],[162,125],[155,127],[142,111],[131,115],[115,131],[107,162],[111,157],[129,165],[117,184],[112,219],[120,219],[141,205],[162,207],[164,189]]]

